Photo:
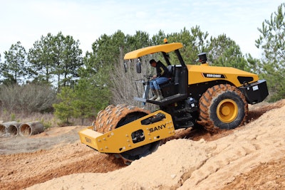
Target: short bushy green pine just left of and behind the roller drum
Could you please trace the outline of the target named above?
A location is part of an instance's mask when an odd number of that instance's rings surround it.
[[[53,104],[54,114],[62,122],[69,124],[71,117],[84,119],[93,117],[109,104],[108,88],[92,85],[88,78],[81,78],[74,90],[64,87],[58,93],[58,103]]]

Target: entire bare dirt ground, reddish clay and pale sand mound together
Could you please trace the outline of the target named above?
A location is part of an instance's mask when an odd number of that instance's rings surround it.
[[[285,189],[285,100],[249,107],[249,123],[183,130],[128,167],[78,139],[84,126],[0,137],[0,189]]]

